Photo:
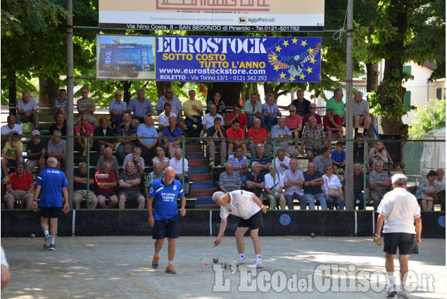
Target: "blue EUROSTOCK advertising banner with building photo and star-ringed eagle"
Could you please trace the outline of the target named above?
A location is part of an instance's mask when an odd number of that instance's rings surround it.
[[[114,36],[114,41],[125,43],[118,46],[110,41],[98,43],[98,71],[103,72],[97,75],[98,79],[115,79],[104,74],[105,69],[127,75],[120,79],[134,80],[320,82],[321,79],[320,37],[145,37],[154,40],[141,45]],[[152,50],[155,58],[151,62],[148,53],[153,53]]]

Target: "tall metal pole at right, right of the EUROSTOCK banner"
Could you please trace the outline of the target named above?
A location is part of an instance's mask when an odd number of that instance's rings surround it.
[[[348,0],[348,27],[346,30],[346,139],[353,138],[353,6]],[[353,142],[346,142],[346,210],[354,210],[354,159]]]

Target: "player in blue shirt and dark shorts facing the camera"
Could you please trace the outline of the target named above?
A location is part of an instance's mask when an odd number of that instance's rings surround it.
[[[184,197],[182,183],[175,177],[175,169],[166,167],[164,177],[153,182],[149,190],[147,200],[147,212],[149,214],[149,225],[152,229],[152,238],[155,242],[155,254],[153,255],[152,267],[158,268],[158,259],[160,258],[163,241],[168,238],[168,267],[166,273],[175,274],[172,262],[175,255],[175,239],[179,237],[179,212],[177,211],[177,196],[182,200],[180,215],[186,215],[184,209],[187,204],[187,198]],[[155,203],[155,209],[152,214],[152,205]]]

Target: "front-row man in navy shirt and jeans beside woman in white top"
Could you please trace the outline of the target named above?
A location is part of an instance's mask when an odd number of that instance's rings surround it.
[[[303,191],[306,201],[309,203],[309,210],[315,210],[315,199],[320,203],[322,210],[327,210],[325,194],[321,190],[325,180],[322,178],[321,172],[317,170],[315,163],[309,162],[308,171],[303,173],[303,177]]]

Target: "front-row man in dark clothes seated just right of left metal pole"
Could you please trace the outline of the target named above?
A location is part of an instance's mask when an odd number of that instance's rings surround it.
[[[73,208],[79,209],[81,207],[82,198],[87,199],[87,163],[79,163],[79,169],[73,174]],[[92,186],[94,186],[94,178],[89,178],[89,209],[96,208],[98,205],[98,198]]]

